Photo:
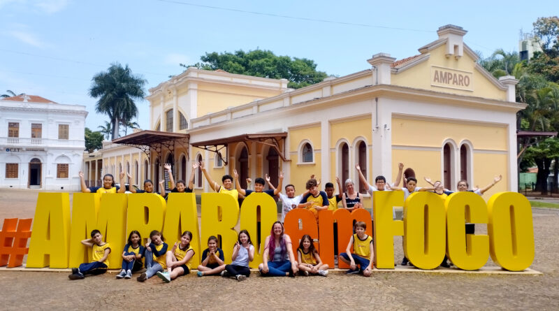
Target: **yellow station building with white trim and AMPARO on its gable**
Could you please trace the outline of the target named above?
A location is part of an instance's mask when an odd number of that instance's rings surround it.
[[[154,131],[113,142],[140,147],[150,140],[147,152],[112,144],[103,166],[148,164],[136,175],[154,181],[162,163],[183,180],[192,161],[204,161],[215,180],[236,168],[241,182],[269,173],[275,183],[281,170],[284,185],[300,192],[311,174],[323,185],[336,176],[357,185],[356,164],[370,183],[377,175],[391,181],[403,162],[419,186],[428,176],[452,190],[460,179],[483,187],[502,174],[485,198],[516,191],[516,112],[525,107],[515,102],[518,80],[496,80],[479,66],[462,28],[447,25],[437,34],[419,55],[396,61],[379,53],[363,71],[296,90],[286,80],[189,68],[150,89]],[[157,147],[158,137],[167,143]],[[194,174],[196,192],[211,191]]]

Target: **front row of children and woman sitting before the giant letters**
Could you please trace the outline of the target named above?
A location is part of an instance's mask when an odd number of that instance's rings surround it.
[[[340,259],[351,266],[348,273],[361,272],[370,276],[374,252],[372,237],[365,234],[365,229],[364,222],[355,224],[356,233],[351,236],[346,252],[340,254]],[[92,248],[92,261],[72,268],[72,274],[68,276],[70,280],[80,280],[85,278],[85,275],[99,275],[107,271],[110,245],[103,242],[99,230],[92,231],[91,236],[92,238],[82,240],[82,244]],[[141,244],[140,233],[131,231],[122,252],[122,270],[116,278],[130,279],[132,273],[144,268],[143,263],[145,271],[136,278],[138,282],[144,282],[154,275],[164,282],[170,282],[181,275],[189,274],[191,259],[195,254],[190,245],[191,239],[192,233],[184,231],[180,240],[168,250],[165,238],[159,231],[154,230],[150,233],[150,239],[145,246]],[[351,246],[354,247],[354,253],[350,252]],[[263,263],[259,266],[261,275],[294,277],[298,272],[305,276],[328,275],[328,264],[321,261],[312,237],[307,234],[300,239],[295,259],[291,250],[291,239],[284,233],[282,222],[273,224],[264,249]],[[238,240],[233,246],[232,262],[227,265],[224,262],[224,252],[218,247],[217,238],[210,236],[208,248],[203,251],[202,262],[197,267],[197,275],[222,275],[234,277],[238,281],[246,280],[250,275],[249,262],[253,259],[254,245],[247,230],[239,232]]]

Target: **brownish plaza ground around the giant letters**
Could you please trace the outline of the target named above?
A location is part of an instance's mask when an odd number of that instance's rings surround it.
[[[0,189],[0,224],[33,217],[38,192]],[[115,280],[115,273],[70,281],[68,273],[0,271],[1,309],[87,310],[557,310],[559,210],[534,208],[536,255],[530,268],[543,275],[377,272],[372,277],[260,277],[245,282],[194,273],[165,284]],[[483,232],[485,228],[477,228]],[[395,238],[395,261],[402,256]],[[488,266],[493,266],[491,259]]]

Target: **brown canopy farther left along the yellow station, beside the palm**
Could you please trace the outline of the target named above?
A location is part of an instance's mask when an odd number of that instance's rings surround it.
[[[173,154],[174,158],[175,143],[179,143],[180,145],[182,145],[182,147],[184,147],[184,149],[188,149],[187,145],[189,143],[189,139],[190,135],[187,133],[145,130],[117,138],[115,140],[112,140],[112,143],[136,147],[145,152],[151,162],[151,150],[154,150],[154,152],[156,152],[159,157],[161,157],[161,147],[166,147],[171,152],[171,154]],[[161,163],[162,162],[163,161],[161,161]]]

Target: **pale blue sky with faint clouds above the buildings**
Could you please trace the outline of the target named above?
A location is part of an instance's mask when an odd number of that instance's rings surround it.
[[[556,1],[0,0],[0,94],[86,107],[86,126],[108,121],[89,97],[92,77],[128,64],[148,89],[205,52],[271,50],[312,59],[328,75],[370,68],[379,52],[402,59],[455,24],[484,57],[518,51],[521,30],[558,15]],[[149,102],[136,102],[148,129]]]

